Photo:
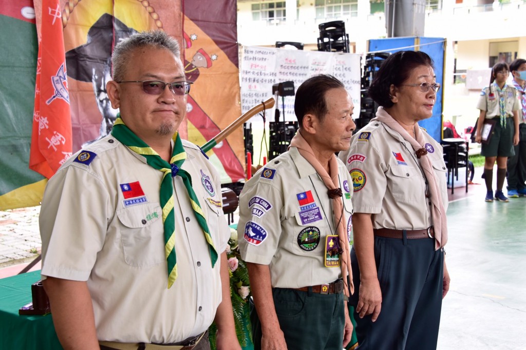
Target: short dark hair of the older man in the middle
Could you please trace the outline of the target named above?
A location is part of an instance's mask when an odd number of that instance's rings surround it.
[[[325,101],[325,93],[330,89],[343,88],[345,85],[328,74],[319,74],[305,80],[296,91],[294,100],[294,112],[298,118],[298,125],[301,128],[303,117],[306,114],[313,114],[321,121],[328,112]]]

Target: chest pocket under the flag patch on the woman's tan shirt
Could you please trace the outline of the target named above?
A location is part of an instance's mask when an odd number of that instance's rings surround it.
[[[393,198],[400,202],[422,200],[424,197],[423,179],[418,169],[409,166],[392,165],[387,173],[391,183]],[[421,186],[422,185],[422,186]]]

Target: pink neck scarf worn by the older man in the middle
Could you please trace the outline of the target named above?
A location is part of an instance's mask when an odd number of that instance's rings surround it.
[[[349,296],[349,283],[347,282],[347,276],[349,276],[351,294],[354,293],[355,288],[352,283],[349,238],[347,236],[345,227],[343,227],[343,223],[346,222],[346,220],[345,214],[343,213],[341,189],[339,188],[340,182],[338,179],[338,160],[333,153],[329,160],[329,170],[332,176],[331,178],[325,168],[323,168],[318,159],[315,157],[314,152],[312,151],[312,148],[310,147],[307,140],[301,136],[299,131],[296,132],[296,135],[290,141],[290,147],[296,147],[298,149],[299,154],[305,158],[316,170],[328,189],[328,195],[332,200],[332,208],[334,209],[334,222],[337,225],[336,231],[338,233],[338,240],[340,241],[340,266],[341,276],[343,278],[343,292],[345,295]]]

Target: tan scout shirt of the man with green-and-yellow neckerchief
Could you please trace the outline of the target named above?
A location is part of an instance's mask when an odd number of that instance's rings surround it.
[[[214,244],[223,252],[230,233],[219,175],[196,146],[183,145],[188,159],[182,168],[191,174]],[[88,160],[74,161],[79,157]],[[87,281],[99,341],[183,341],[207,330],[221,302],[219,260],[212,269],[180,177],[173,179],[178,276],[167,289],[162,176],[107,136],[68,159],[47,184],[40,214],[42,277]]]

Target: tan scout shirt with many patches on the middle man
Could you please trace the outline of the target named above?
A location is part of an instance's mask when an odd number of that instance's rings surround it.
[[[352,184],[339,163],[350,239]],[[341,277],[341,268],[326,267],[324,260],[326,236],[337,235],[327,187],[297,148],[291,147],[247,181],[239,197],[239,216],[241,258],[269,265],[272,287],[299,288]]]

